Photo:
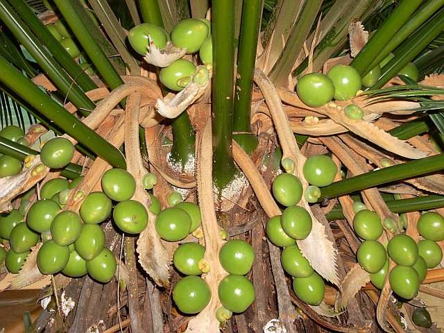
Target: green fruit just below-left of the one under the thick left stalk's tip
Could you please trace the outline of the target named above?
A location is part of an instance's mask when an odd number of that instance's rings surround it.
[[[111,199],[103,192],[92,192],[87,195],[80,206],[80,217],[88,224],[98,224],[111,214]]]

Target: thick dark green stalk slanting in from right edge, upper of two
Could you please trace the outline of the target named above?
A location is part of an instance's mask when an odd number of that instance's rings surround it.
[[[326,187],[321,188],[321,197],[334,198],[343,194],[349,194],[361,189],[368,189],[377,185],[418,177],[427,173],[441,171],[444,169],[444,154],[424,157],[412,160],[392,167],[386,167],[377,171],[370,171],[359,176],[339,180]]]

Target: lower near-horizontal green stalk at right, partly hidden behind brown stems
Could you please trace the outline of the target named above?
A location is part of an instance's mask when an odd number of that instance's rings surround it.
[[[388,209],[395,214],[434,210],[444,207],[444,196],[432,195],[419,196],[418,198],[387,200],[386,204]],[[341,205],[334,207],[325,217],[328,221],[345,219]]]

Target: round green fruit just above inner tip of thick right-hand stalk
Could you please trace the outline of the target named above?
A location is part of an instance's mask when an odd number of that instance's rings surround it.
[[[338,167],[326,155],[312,155],[305,161],[302,171],[309,184],[323,187],[334,181]]]

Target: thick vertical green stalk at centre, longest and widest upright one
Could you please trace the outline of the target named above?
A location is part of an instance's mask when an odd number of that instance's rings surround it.
[[[214,0],[213,39],[213,176],[223,189],[234,176],[232,158],[233,83],[234,83],[234,0]]]

